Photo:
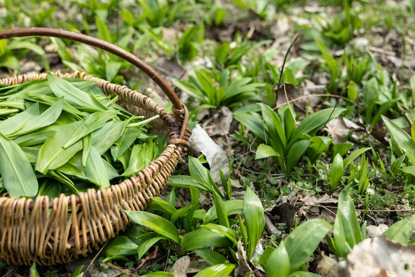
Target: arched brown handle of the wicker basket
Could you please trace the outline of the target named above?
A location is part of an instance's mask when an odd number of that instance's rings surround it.
[[[109,53],[112,53],[122,59],[126,60],[130,64],[137,66],[138,69],[142,70],[146,73],[149,78],[154,80],[158,87],[164,91],[167,95],[169,100],[172,102],[174,109],[174,113],[178,115],[180,112],[183,114],[183,105],[181,101],[178,99],[176,93],[174,93],[172,87],[167,84],[167,82],[160,76],[154,69],[151,68],[145,62],[142,62],[138,57],[135,55],[125,51],[124,49],[106,42],[102,39],[97,39],[95,37],[91,37],[89,35],[84,35],[81,33],[75,33],[68,30],[62,29],[55,29],[55,28],[15,28],[15,29],[8,29],[8,30],[0,30],[0,39],[8,39],[10,37],[32,37],[32,36],[39,36],[39,37],[59,37],[62,39],[71,39],[76,42],[81,42],[84,44],[89,44],[91,46],[95,46],[101,48]]]

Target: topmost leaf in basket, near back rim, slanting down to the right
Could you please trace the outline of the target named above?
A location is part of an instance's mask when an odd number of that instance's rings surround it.
[[[96,100],[90,93],[86,93],[70,82],[48,73],[50,89],[57,98],[65,98],[65,101],[83,111],[102,111],[108,109]]]

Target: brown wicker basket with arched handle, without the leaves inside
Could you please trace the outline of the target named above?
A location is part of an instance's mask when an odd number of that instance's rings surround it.
[[[160,115],[150,123],[156,132],[169,134],[165,150],[149,167],[121,184],[110,188],[89,189],[79,195],[60,195],[54,199],[38,196],[35,199],[0,198],[0,259],[8,264],[55,265],[70,262],[100,249],[104,242],[116,237],[131,222],[123,210],[143,210],[150,197],[160,194],[174,171],[191,132],[187,129],[188,114],[171,87],[150,66],[122,48],[94,37],[50,28],[20,28],[0,31],[0,39],[9,37],[48,36],[72,39],[97,46],[122,57],[144,71],[165,91],[172,101],[173,114],[151,98],[125,86],[111,84],[85,73],[55,73],[62,78],[92,80],[110,96],[118,96],[118,104],[133,114],[149,118]],[[0,84],[21,84],[44,79],[46,73],[14,76],[0,80]]]

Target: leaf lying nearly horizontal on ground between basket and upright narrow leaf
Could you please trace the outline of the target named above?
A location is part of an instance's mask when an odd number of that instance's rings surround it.
[[[203,249],[208,247],[228,247],[232,243],[228,238],[206,228],[196,229],[183,235],[181,241],[182,251]]]

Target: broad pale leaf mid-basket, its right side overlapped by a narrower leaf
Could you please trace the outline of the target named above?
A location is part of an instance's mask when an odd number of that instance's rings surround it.
[[[70,148],[63,148],[66,139],[75,132],[80,124],[81,122],[77,121],[59,126],[59,129],[40,148],[35,170],[46,174],[48,170],[60,168],[82,149],[82,141],[78,141]]]

